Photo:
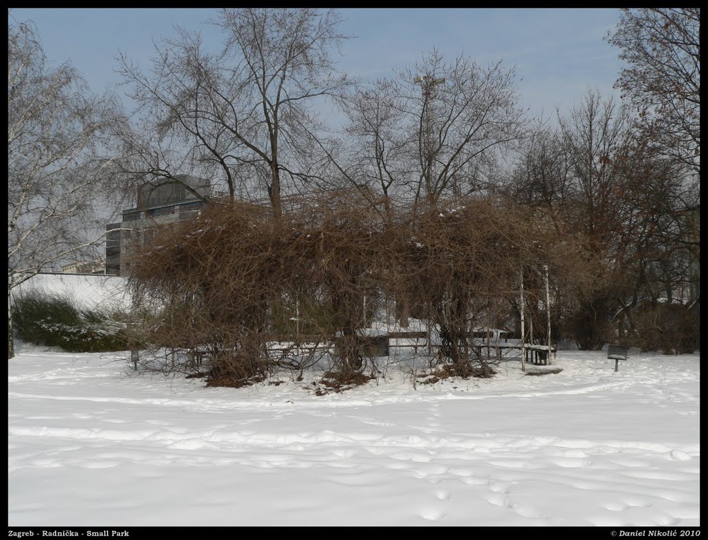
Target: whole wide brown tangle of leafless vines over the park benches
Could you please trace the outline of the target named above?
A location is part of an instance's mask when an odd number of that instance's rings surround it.
[[[302,370],[317,351],[331,356],[330,384],[363,382],[373,353],[362,330],[377,307],[401,298],[434,329],[436,363],[488,377],[474,329],[509,319],[522,275],[529,298],[543,298],[533,277],[539,264],[561,279],[575,248],[543,222],[489,200],[383,218],[372,201],[348,192],[303,201],[277,219],[255,204],[212,204],[157,230],[136,254],[130,284],[137,303],[159,307],[140,341],[169,370],[199,370],[199,358],[208,358],[211,385]]]

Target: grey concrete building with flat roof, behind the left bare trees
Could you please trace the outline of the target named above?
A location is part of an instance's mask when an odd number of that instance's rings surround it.
[[[130,271],[130,255],[149,239],[151,228],[195,215],[211,194],[204,178],[176,175],[176,180],[146,182],[138,188],[137,207],[122,212],[120,223],[106,227],[105,273],[125,276]]]

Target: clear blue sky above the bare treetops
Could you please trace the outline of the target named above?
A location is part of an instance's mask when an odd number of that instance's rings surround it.
[[[340,66],[361,78],[390,76],[437,47],[479,64],[501,59],[516,66],[521,104],[531,112],[567,112],[589,87],[607,96],[621,62],[603,40],[619,20],[618,9],[343,9],[343,33],[354,35],[342,49]],[[147,67],[153,41],[173,25],[195,30],[214,18],[213,9],[13,9],[18,21],[33,20],[45,51],[66,60],[97,93],[120,81],[113,73],[118,50]],[[205,40],[221,36],[205,27]],[[120,92],[120,88],[118,89]]]

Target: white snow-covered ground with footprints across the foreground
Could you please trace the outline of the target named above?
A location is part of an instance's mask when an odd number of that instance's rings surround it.
[[[316,397],[8,362],[8,524],[700,524],[700,358],[560,351],[563,371]]]

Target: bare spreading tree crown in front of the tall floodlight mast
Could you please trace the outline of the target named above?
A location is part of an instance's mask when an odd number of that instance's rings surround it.
[[[435,204],[443,194],[484,187],[480,172],[498,149],[523,135],[514,77],[501,61],[484,67],[457,57],[448,63],[436,50],[401,73],[416,134],[418,197]]]

